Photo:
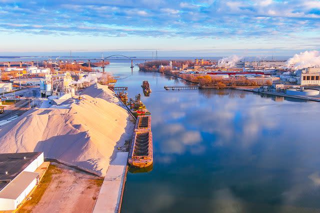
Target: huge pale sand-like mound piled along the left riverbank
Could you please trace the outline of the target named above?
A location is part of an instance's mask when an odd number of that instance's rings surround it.
[[[131,137],[133,124],[109,89],[95,84],[82,94],[84,99],[69,109],[30,110],[3,126],[0,153],[42,151],[45,158],[105,176],[115,145]]]

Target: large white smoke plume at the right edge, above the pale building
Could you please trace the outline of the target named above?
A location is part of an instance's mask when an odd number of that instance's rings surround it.
[[[286,61],[286,66],[293,69],[320,67],[320,52],[316,50],[300,52]]]

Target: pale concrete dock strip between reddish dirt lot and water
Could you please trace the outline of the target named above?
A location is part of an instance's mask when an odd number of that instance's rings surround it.
[[[116,153],[100,189],[93,213],[116,213],[119,208],[128,152]]]

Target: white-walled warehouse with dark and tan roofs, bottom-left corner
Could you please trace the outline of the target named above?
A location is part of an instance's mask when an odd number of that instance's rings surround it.
[[[38,184],[43,152],[0,154],[0,211],[13,211]]]

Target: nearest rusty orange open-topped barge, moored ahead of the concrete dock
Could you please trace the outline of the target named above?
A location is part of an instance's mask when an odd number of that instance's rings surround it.
[[[153,162],[151,131],[134,132],[129,152],[128,163],[131,166],[143,168]]]

